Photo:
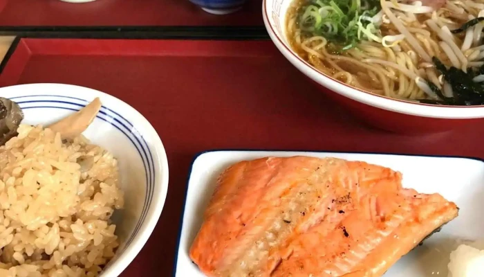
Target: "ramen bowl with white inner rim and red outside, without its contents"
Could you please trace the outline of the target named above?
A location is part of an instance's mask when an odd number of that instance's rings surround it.
[[[484,123],[484,106],[427,105],[362,91],[317,71],[292,50],[286,35],[286,14],[293,0],[263,0],[263,20],[275,46],[316,87],[366,123],[392,132],[445,132]]]

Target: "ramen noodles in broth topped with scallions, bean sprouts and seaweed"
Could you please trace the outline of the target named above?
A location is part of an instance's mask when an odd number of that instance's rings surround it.
[[[351,87],[428,104],[483,105],[482,16],[484,0],[296,0],[286,35],[299,57]]]

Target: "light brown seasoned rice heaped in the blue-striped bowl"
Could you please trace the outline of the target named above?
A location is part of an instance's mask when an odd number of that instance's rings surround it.
[[[18,132],[0,147],[0,277],[98,276],[118,247],[118,161],[82,136]]]

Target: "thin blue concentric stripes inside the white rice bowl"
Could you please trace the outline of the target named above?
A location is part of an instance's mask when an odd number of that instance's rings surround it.
[[[21,98],[28,98],[29,100],[22,101]],[[40,98],[40,99],[39,99]],[[53,98],[53,100],[47,100],[46,98]],[[71,96],[58,96],[58,95],[36,95],[36,96],[17,96],[10,98],[15,100],[17,104],[21,107],[21,109],[42,109],[42,108],[50,108],[50,109],[68,109],[71,111],[79,111],[89,103],[88,100],[84,100],[81,98],[75,98]],[[30,100],[30,99],[39,99],[39,100]],[[77,102],[73,102],[77,101]],[[79,103],[79,101],[81,103]],[[33,105],[32,105],[33,104]],[[66,107],[66,105],[71,107]],[[124,136],[133,143],[134,147],[138,151],[140,155],[143,166],[145,167],[146,172],[146,182],[147,182],[147,190],[145,193],[145,202],[143,204],[143,208],[141,211],[141,216],[136,222],[136,226],[134,228],[133,233],[131,233],[130,237],[128,238],[124,249],[120,251],[119,255],[124,252],[125,249],[129,247],[129,244],[133,241],[133,239],[138,234],[138,231],[145,222],[145,218],[149,207],[151,206],[151,201],[153,199],[153,190],[155,187],[154,180],[155,180],[155,170],[154,170],[154,161],[153,155],[151,154],[151,150],[149,150],[149,146],[145,139],[142,137],[138,129],[133,126],[129,120],[121,116],[118,112],[109,109],[108,107],[101,107],[99,114],[97,114],[96,118],[105,121],[113,125],[116,129],[118,129]],[[124,123],[123,123],[124,122]],[[116,124],[115,124],[116,123]],[[127,126],[128,125],[128,126]],[[131,134],[131,136],[129,136]],[[134,139],[134,140],[133,140]],[[135,141],[138,143],[135,143]],[[118,254],[118,253],[116,253]]]

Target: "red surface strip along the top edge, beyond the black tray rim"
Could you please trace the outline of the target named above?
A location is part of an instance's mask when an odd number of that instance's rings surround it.
[[[262,26],[262,1],[211,15],[188,0],[0,0],[0,26]]]

